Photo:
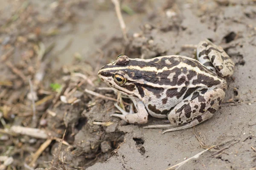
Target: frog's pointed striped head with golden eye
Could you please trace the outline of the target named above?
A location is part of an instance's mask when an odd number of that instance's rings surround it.
[[[136,61],[125,55],[119,55],[116,61],[103,66],[98,71],[99,78],[110,87],[128,96],[138,96],[136,83],[140,80],[135,78]]]

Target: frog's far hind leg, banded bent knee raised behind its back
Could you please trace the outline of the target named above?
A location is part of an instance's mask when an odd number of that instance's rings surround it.
[[[199,42],[197,58],[204,66],[221,77],[230,77],[234,72],[234,62],[223,50],[209,40]]]

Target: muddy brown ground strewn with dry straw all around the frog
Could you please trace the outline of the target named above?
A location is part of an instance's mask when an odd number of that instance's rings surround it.
[[[256,170],[255,0],[122,0],[128,42],[111,0],[0,2],[0,170],[166,170],[213,145],[179,169]],[[119,54],[195,58],[184,45],[205,38],[236,63],[212,119],[161,134],[110,116],[101,66]]]

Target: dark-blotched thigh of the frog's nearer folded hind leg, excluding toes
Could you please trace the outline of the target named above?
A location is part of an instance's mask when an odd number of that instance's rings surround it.
[[[218,88],[212,91],[208,91],[204,94],[204,96],[198,96],[194,100],[190,101],[189,104],[183,107],[182,111],[180,111],[179,113],[177,113],[176,110],[179,108],[175,107],[169,113],[168,119],[171,123],[176,123],[177,126],[180,126],[170,128],[164,131],[164,133],[193,127],[211,118],[221,105],[224,97],[225,92],[222,89]]]

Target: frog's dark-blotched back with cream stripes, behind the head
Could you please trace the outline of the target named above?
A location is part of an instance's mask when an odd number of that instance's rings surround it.
[[[178,55],[156,57],[153,59],[131,59],[129,66],[131,79],[143,79],[144,84],[153,87],[169,88],[219,87],[225,80],[195,59]]]

